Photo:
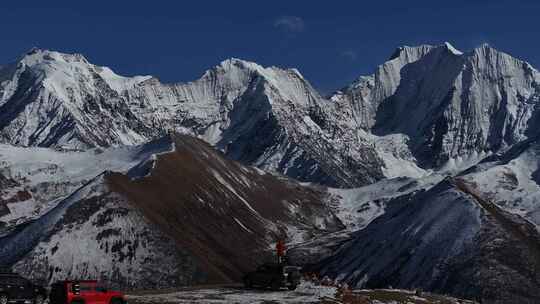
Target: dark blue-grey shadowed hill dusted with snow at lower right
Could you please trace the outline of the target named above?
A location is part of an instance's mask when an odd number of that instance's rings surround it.
[[[388,203],[383,216],[319,267],[358,288],[420,288],[482,303],[537,303],[538,232],[486,206],[443,181]]]

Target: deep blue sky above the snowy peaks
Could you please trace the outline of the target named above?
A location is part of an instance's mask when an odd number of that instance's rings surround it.
[[[487,42],[540,67],[539,16],[536,0],[2,1],[0,63],[36,46],[177,82],[237,57],[296,67],[329,92],[400,45]]]

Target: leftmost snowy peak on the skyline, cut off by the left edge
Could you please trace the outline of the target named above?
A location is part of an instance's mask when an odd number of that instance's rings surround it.
[[[123,78],[82,55],[38,49],[0,75],[0,138],[5,143],[83,149],[142,143],[155,134],[113,89],[145,77]]]

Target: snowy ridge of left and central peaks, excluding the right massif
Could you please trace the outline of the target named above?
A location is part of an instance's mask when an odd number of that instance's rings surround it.
[[[32,50],[0,74],[3,142],[87,149],[176,131],[301,180],[351,186],[383,176],[369,142],[333,124],[328,101],[294,69],[231,59],[195,82],[167,85]]]

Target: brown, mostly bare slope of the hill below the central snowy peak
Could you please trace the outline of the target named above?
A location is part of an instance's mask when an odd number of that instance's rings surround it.
[[[288,237],[287,226],[311,236],[343,228],[323,204],[324,192],[243,167],[201,140],[174,142],[177,150],[159,156],[150,176],[111,173],[107,181],[203,261],[211,281],[238,281],[271,260],[269,249]]]

